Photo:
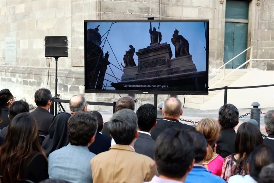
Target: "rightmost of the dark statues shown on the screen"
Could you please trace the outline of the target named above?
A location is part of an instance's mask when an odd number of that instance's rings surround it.
[[[172,44],[175,46],[175,57],[182,57],[190,55],[189,44],[182,35],[179,35],[179,31],[175,29],[171,39]]]

